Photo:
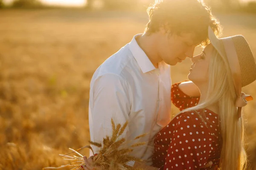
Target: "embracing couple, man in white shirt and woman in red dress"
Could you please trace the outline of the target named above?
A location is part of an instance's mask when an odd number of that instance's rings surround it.
[[[242,170],[246,165],[241,88],[255,81],[256,64],[243,36],[218,39],[220,25],[201,0],[156,0],[144,34],[108,58],[90,84],[89,124],[94,142],[129,122],[128,141],[147,133],[131,156],[145,170]],[[193,57],[196,46],[204,46]],[[189,80],[172,85],[170,65],[191,58]],[[172,73],[175,74],[175,73]],[[172,96],[172,97],[171,97]],[[171,120],[171,100],[180,113]],[[93,146],[92,146],[93,147]],[[95,153],[98,148],[93,147]],[[85,170],[92,159],[85,158]]]

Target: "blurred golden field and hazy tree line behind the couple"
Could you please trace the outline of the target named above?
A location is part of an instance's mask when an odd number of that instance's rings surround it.
[[[0,170],[58,167],[68,163],[59,153],[88,144],[93,72],[143,33],[152,1],[0,0]],[[256,57],[256,1],[206,2],[224,36],[244,35]],[[190,65],[173,66],[172,81],[187,79]],[[243,91],[256,98],[256,82]],[[256,170],[255,100],[244,114],[248,170]]]

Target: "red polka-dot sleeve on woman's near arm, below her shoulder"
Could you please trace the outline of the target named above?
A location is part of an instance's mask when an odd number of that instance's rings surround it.
[[[178,119],[163,170],[199,170],[209,162],[212,137],[205,125],[194,124],[188,115]]]

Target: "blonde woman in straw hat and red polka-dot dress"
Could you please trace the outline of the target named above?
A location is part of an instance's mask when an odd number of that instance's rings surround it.
[[[181,113],[155,136],[155,169],[209,169],[209,161],[223,170],[245,169],[241,107],[252,97],[241,88],[256,80],[255,60],[243,36],[218,39],[211,28],[208,34],[211,43],[192,58],[193,83],[172,86]]]

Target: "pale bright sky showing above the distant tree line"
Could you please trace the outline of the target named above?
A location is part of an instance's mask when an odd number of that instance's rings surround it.
[[[11,3],[13,0],[3,0],[6,3]],[[43,3],[49,5],[58,5],[58,6],[84,6],[86,0],[41,0]],[[249,2],[256,0],[240,0],[241,2]]]

